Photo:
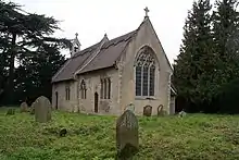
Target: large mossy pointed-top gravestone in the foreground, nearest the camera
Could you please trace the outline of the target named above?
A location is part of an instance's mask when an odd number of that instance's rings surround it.
[[[133,157],[139,149],[138,120],[130,110],[126,110],[116,122],[117,158]]]

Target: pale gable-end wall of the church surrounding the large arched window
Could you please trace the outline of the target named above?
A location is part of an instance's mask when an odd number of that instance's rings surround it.
[[[134,62],[139,49],[143,46],[150,47],[158,59],[155,73],[155,96],[153,99],[137,98],[135,96],[135,71]],[[120,102],[121,110],[130,102],[135,103],[136,114],[142,115],[144,106],[152,106],[152,114],[158,113],[158,107],[163,104],[163,109],[169,113],[169,74],[172,67],[168,64],[160,40],[149,21],[146,21],[139,28],[136,38],[128,45],[126,52],[121,58],[122,69],[122,99]],[[121,70],[121,69],[120,69]]]

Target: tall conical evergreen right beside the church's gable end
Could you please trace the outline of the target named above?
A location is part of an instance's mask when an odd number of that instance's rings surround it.
[[[184,27],[180,53],[174,64],[174,84],[178,96],[186,100],[186,108],[191,111],[201,110],[200,104],[204,102],[206,93],[204,86],[209,78],[205,72],[213,69],[211,8],[210,0],[193,2]]]

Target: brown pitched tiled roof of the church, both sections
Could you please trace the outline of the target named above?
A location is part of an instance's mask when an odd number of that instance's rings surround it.
[[[59,70],[52,82],[73,79],[75,74],[112,66],[136,33],[130,32],[103,45],[100,41],[77,52]]]

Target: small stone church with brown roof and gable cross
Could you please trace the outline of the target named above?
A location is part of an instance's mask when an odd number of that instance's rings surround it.
[[[114,39],[106,34],[96,45],[80,50],[72,41],[71,58],[52,77],[52,106],[59,110],[96,114],[135,113],[144,107],[158,114],[175,112],[173,69],[144,9],[139,27]],[[163,108],[162,108],[163,107]]]

